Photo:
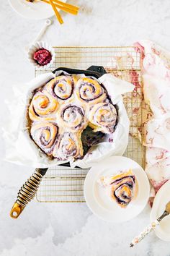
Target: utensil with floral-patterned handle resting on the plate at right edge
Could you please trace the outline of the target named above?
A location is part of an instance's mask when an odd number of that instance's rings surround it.
[[[141,232],[138,236],[135,236],[133,241],[130,243],[130,247],[133,247],[135,244],[138,244],[140,241],[142,241],[149,233],[151,233],[151,231],[153,231],[156,228],[156,226],[159,225],[159,223],[163,220],[163,218],[165,218],[166,216],[169,216],[169,214],[170,214],[170,201],[167,202],[164,213],[162,213],[162,215],[159,218],[157,218],[150,225],[148,225],[146,229],[144,229],[143,232]]]

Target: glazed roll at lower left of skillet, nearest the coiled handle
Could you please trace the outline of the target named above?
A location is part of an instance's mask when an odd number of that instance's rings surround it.
[[[51,155],[53,152],[53,145],[57,134],[57,125],[49,122],[32,124],[30,131],[32,139],[48,155]]]

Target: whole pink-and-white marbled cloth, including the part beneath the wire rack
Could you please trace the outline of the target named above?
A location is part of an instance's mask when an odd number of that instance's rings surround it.
[[[135,49],[140,51],[142,59],[142,81],[134,56],[129,53],[112,57],[108,64],[112,69],[106,69],[135,85],[133,93],[124,95],[123,99],[133,124],[130,135],[146,146],[146,173],[153,185],[151,196],[154,197],[170,179],[170,53],[149,40],[135,43]]]

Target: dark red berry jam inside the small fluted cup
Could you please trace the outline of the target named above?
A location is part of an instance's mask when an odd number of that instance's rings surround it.
[[[50,63],[52,56],[50,54],[50,51],[40,48],[37,51],[35,51],[35,54],[33,56],[33,59],[39,64],[40,66],[45,66],[48,63]]]

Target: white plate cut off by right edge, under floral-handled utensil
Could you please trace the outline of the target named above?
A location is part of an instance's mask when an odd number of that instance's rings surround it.
[[[166,203],[170,201],[170,181],[166,182],[161,189],[158,190],[153,201],[151,210],[151,221],[156,220],[164,213]],[[164,241],[170,241],[170,216],[165,217],[159,226],[155,229],[156,236]]]

